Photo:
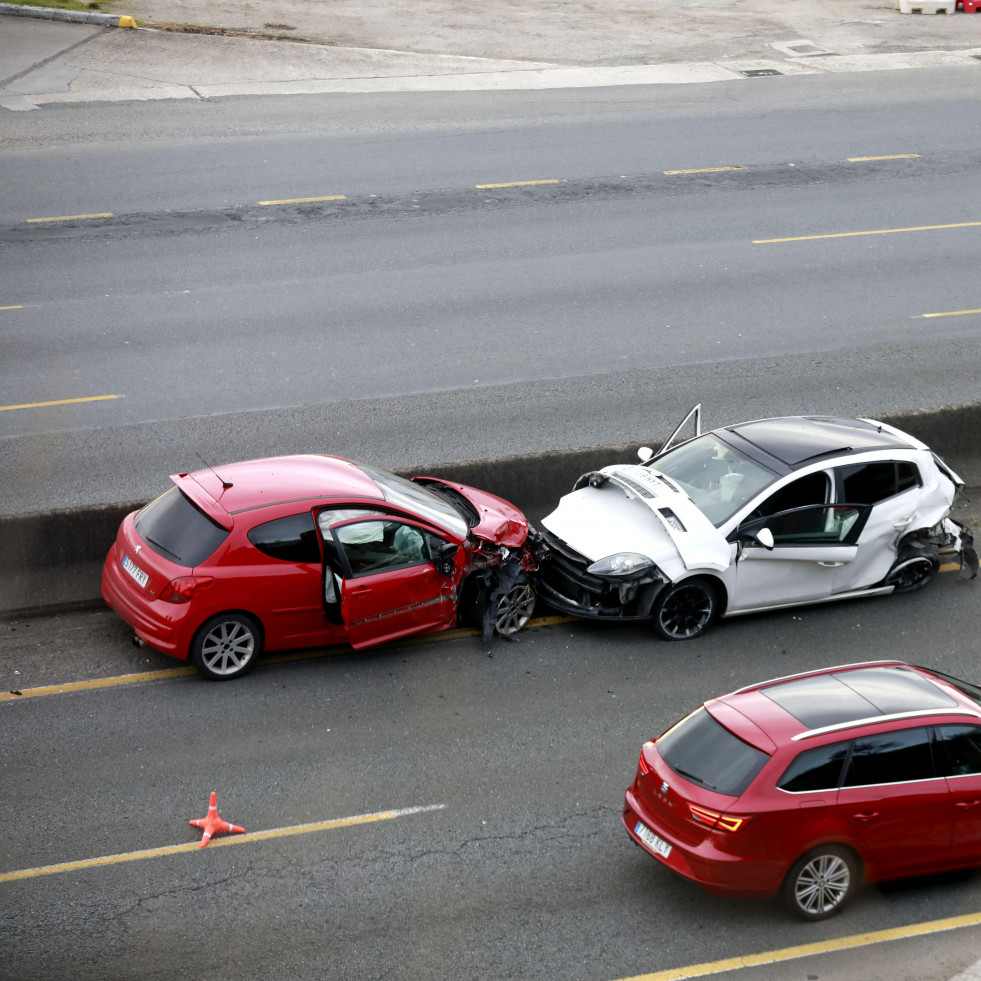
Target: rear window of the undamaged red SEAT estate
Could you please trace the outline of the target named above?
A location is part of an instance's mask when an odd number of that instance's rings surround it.
[[[744,743],[700,708],[657,741],[657,751],[679,776],[729,797],[738,797],[769,756]]]

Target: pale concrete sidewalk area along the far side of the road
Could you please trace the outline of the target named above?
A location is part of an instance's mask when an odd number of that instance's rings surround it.
[[[138,30],[0,4],[0,108],[981,66],[981,16],[861,2],[119,0],[114,14],[157,25]]]

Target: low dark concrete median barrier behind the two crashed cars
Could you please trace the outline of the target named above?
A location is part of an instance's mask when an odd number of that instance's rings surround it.
[[[916,436],[967,482],[981,486],[981,403],[869,416]],[[739,420],[733,420],[739,421]],[[660,442],[663,442],[664,437]],[[659,440],[652,438],[655,447]],[[480,487],[540,520],[588,470],[633,462],[639,443],[542,451],[520,456],[420,464],[397,472]],[[335,448],[332,448],[335,449]],[[0,515],[0,616],[10,618],[101,603],[102,562],[119,522],[145,501]]]

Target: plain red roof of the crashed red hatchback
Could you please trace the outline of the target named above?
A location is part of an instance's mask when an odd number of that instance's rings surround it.
[[[350,460],[309,453],[224,463],[171,480],[218,517],[288,501],[329,498],[384,500],[378,485]]]

